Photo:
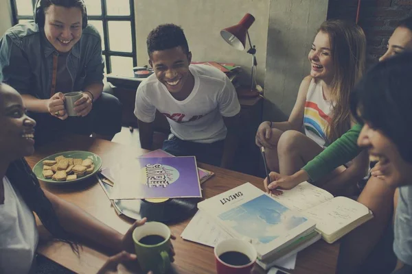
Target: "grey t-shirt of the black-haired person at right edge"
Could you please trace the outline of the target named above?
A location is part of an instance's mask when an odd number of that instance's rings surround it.
[[[394,232],[393,251],[396,257],[412,265],[412,186],[399,188]]]

